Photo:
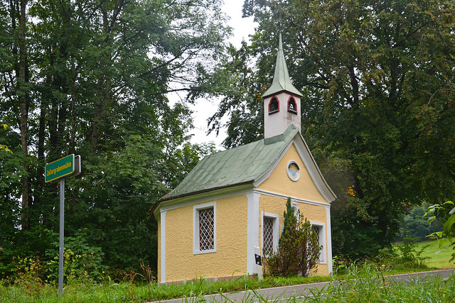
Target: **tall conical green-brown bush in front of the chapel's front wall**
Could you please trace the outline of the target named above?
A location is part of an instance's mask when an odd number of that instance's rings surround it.
[[[299,219],[297,219],[299,218]],[[284,230],[276,252],[264,252],[266,268],[271,275],[307,277],[319,260],[319,236],[300,212],[294,214],[291,199],[284,212]]]

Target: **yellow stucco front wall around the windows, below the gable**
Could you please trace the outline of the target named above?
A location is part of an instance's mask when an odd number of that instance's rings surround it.
[[[281,227],[284,222],[284,216],[283,213],[286,210],[286,202],[287,199],[284,198],[279,198],[279,197],[272,197],[269,195],[261,194],[259,197],[259,226],[262,224],[262,213],[268,213],[268,214],[276,214],[279,215],[279,226],[280,226],[280,231]],[[297,206],[299,207],[299,211],[302,216],[304,216],[307,220],[309,221],[314,221],[318,223],[327,223],[327,217],[326,217],[326,208],[324,206],[318,206],[318,205],[312,205],[312,204],[307,204],[307,203],[301,203],[297,202]],[[261,229],[259,228],[259,245],[262,243],[261,239]],[[326,228],[326,233],[327,233],[327,228]],[[327,234],[326,234],[326,243],[325,246],[327,248]],[[327,250],[326,251],[326,260],[327,260]],[[314,275],[314,271],[311,273]],[[317,267],[317,272],[316,275],[323,275],[327,276],[328,275],[328,265],[327,264],[319,264]]]

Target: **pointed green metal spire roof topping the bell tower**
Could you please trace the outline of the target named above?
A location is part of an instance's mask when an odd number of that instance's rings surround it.
[[[289,78],[289,72],[287,70],[286,60],[284,59],[282,34],[279,34],[279,45],[277,53],[277,64],[275,65],[275,74],[273,76],[272,86],[264,92],[262,97],[270,96],[271,94],[277,94],[278,92],[287,91],[298,96],[302,96],[299,89],[296,89],[291,83]]]

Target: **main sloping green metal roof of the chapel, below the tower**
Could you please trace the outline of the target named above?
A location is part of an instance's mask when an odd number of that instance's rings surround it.
[[[206,156],[156,204],[198,192],[254,182],[272,168],[297,131],[291,124],[281,135]]]

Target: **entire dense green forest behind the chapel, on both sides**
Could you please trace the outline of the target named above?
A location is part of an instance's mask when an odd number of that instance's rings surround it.
[[[301,133],[338,196],[334,254],[373,257],[412,205],[453,198],[454,1],[247,0],[244,13],[252,44],[224,55],[220,1],[0,1],[0,277],[16,256],[55,257],[43,167],[69,153],[82,175],[66,182],[65,233],[91,256],[82,267],[154,267],[151,204],[210,152],[166,94],[220,97],[209,123],[228,116],[227,148],[261,138],[279,32]]]

